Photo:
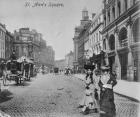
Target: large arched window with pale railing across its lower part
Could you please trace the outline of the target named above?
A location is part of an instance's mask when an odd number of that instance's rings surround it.
[[[119,32],[119,42],[121,47],[128,45],[127,29],[124,27]]]

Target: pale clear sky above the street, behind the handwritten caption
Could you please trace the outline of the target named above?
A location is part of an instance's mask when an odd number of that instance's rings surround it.
[[[82,10],[87,8],[89,17],[99,13],[103,0],[0,0],[0,23],[8,31],[29,27],[43,34],[47,45],[55,51],[55,59],[64,59],[74,49],[75,26],[80,25]],[[29,5],[28,5],[29,3]],[[36,6],[35,3],[44,3]],[[50,7],[49,3],[63,6]]]

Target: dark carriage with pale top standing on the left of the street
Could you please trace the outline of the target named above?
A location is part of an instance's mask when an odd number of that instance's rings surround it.
[[[33,62],[25,58],[9,60],[6,63],[6,79],[14,80],[16,84],[24,84],[25,80],[30,80],[33,76]]]

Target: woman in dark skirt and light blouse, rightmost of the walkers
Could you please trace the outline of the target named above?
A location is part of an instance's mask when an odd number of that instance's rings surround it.
[[[113,87],[117,84],[116,77],[110,73],[108,66],[102,66],[100,77],[100,114],[113,117],[116,114]]]

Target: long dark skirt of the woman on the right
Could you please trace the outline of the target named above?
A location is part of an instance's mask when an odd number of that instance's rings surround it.
[[[114,115],[116,113],[113,89],[106,88],[101,91],[100,109],[108,114]]]

